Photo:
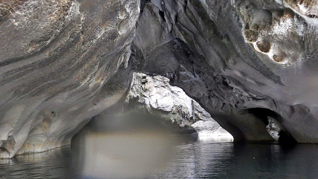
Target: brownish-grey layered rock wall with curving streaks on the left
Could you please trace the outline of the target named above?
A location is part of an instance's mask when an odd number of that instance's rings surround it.
[[[0,1],[0,158],[70,144],[121,98],[138,16],[139,0]]]

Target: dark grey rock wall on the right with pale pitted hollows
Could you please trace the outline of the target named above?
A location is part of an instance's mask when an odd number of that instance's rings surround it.
[[[135,70],[169,78],[235,139],[271,140],[270,116],[298,142],[317,143],[316,7],[152,0],[140,15],[130,60]]]

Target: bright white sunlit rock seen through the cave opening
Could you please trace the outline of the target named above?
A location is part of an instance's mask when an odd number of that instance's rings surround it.
[[[162,76],[150,77],[134,73],[131,90],[126,98],[127,106],[148,111],[164,120],[171,120],[180,127],[192,127],[199,135],[230,135],[186,93],[169,84]]]

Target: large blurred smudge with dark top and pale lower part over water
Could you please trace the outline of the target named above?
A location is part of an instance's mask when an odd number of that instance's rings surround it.
[[[185,134],[186,133],[186,134]],[[192,133],[189,134],[189,133]],[[194,129],[133,111],[96,116],[77,136],[84,176],[141,179],[166,167],[174,146],[191,141],[233,141],[232,136],[200,136]]]

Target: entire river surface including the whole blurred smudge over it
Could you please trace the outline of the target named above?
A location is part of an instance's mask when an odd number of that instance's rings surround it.
[[[72,140],[72,149],[0,160],[0,179],[317,179],[318,145],[181,137],[162,120],[141,117],[101,117]]]

